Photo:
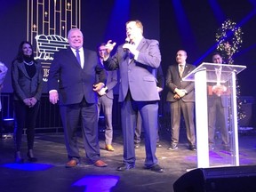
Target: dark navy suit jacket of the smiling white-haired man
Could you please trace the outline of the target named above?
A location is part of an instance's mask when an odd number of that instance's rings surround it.
[[[100,65],[96,52],[84,49],[84,68],[76,60],[71,48],[55,53],[48,77],[48,90],[59,92],[60,104],[76,104],[85,98],[88,103],[96,103],[96,74],[99,81],[106,83],[106,72]]]

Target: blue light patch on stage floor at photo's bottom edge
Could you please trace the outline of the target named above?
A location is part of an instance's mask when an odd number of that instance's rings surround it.
[[[81,180],[77,180],[73,186],[86,186],[86,192],[109,192],[116,186],[119,176],[115,175],[87,175]]]

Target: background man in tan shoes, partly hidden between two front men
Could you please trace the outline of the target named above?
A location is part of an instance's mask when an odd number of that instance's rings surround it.
[[[103,66],[104,55],[107,53],[106,44],[100,44],[97,47],[98,57],[100,63]],[[98,92],[98,119],[100,117],[100,107],[102,107],[104,117],[105,117],[105,149],[108,151],[114,151],[115,148],[112,146],[113,140],[113,125],[112,125],[112,108],[113,108],[113,100],[114,94],[113,89],[117,84],[117,72],[115,71],[107,71],[107,84],[103,87],[100,92]]]

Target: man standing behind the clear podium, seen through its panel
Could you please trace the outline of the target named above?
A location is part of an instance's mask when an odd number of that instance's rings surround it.
[[[212,54],[212,62],[222,64],[222,57],[220,53],[214,52]],[[216,77],[221,77],[221,68],[216,68]],[[219,70],[219,71],[218,71]],[[214,136],[216,129],[216,119],[218,116],[218,124],[220,126],[220,133],[222,145],[224,149],[228,149],[228,88],[227,84],[208,84],[208,132],[209,132],[209,148],[214,149]]]

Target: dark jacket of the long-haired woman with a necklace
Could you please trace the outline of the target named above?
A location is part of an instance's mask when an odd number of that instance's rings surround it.
[[[25,63],[15,60],[12,63],[12,88],[13,100],[24,100],[35,97],[40,100],[43,88],[43,71],[40,62],[36,62],[36,74],[32,78],[28,76]]]

